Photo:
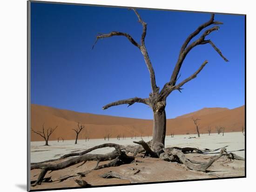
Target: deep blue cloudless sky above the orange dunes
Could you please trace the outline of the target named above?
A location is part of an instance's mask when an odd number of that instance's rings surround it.
[[[157,86],[170,79],[180,47],[209,13],[140,10],[147,22],[145,39]],[[149,74],[141,52],[125,37],[105,38],[92,50],[96,35],[127,32],[140,42],[141,24],[127,8],[31,3],[31,102],[94,114],[152,119],[147,105],[135,103],[102,110],[131,97],[148,97]],[[210,45],[199,45],[185,59],[179,81],[209,64],[167,99],[167,118],[204,107],[233,109],[244,105],[244,16],[216,14],[224,25],[210,38],[229,62]],[[201,34],[201,33],[200,33]],[[199,37],[199,36],[198,36]]]

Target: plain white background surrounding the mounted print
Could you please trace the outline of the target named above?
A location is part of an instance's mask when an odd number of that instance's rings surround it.
[[[52,0],[56,1],[56,0]],[[57,0],[58,1],[58,0]],[[254,191],[255,142],[255,34],[253,0],[60,0],[62,2],[137,6],[207,12],[247,14],[247,178],[138,186],[116,186],[70,190],[121,191]],[[189,21],[189,18],[188,18]],[[170,24],[171,25],[171,24]],[[223,39],[224,40],[224,39]],[[235,41],[236,39],[234,39]],[[223,79],[224,81],[224,79]],[[229,89],[227,87],[227,89]],[[26,191],[27,174],[27,2],[0,1],[0,191]],[[67,190],[65,190],[67,191]]]

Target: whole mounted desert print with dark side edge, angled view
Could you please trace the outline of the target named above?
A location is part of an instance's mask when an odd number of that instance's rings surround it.
[[[245,15],[27,5],[28,191],[246,176]]]

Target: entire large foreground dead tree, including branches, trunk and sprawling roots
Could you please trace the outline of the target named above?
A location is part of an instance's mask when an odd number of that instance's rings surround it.
[[[223,155],[228,156],[230,159],[244,160],[242,157],[239,157],[235,154],[231,154],[231,153],[228,154],[225,148],[222,148],[219,154],[216,154],[209,161],[205,161],[205,162],[189,160],[187,159],[184,153],[191,153],[191,152],[194,153],[195,151],[195,153],[202,154],[204,152],[216,151],[219,149],[216,149],[216,150],[200,149],[199,150],[197,148],[191,148],[191,147],[164,148],[164,141],[165,141],[165,134],[166,134],[166,114],[165,114],[166,98],[174,90],[181,91],[182,86],[185,83],[188,83],[190,80],[194,79],[199,74],[199,72],[205,67],[205,65],[208,64],[207,60],[204,61],[202,65],[199,67],[199,69],[196,70],[190,77],[184,79],[183,81],[181,81],[181,83],[177,83],[177,80],[180,77],[179,75],[180,69],[189,51],[191,51],[197,45],[209,44],[217,51],[217,53],[225,61],[228,61],[210,39],[205,39],[206,36],[208,36],[211,32],[214,32],[219,29],[219,26],[213,26],[208,29],[206,29],[206,27],[211,25],[220,25],[222,23],[219,21],[214,21],[214,14],[212,14],[209,21],[199,26],[194,32],[192,32],[189,35],[189,37],[185,40],[185,42],[181,47],[181,50],[179,52],[179,56],[175,64],[174,70],[171,74],[170,80],[167,83],[165,83],[162,90],[160,90],[159,87],[156,85],[155,72],[152,67],[152,64],[149,59],[148,52],[145,46],[147,24],[141,19],[141,16],[139,15],[139,13],[135,9],[133,10],[143,28],[140,44],[136,42],[135,39],[132,38],[128,33],[124,33],[124,32],[110,32],[108,34],[99,34],[97,36],[96,42],[100,38],[109,38],[113,36],[124,36],[128,38],[128,40],[133,45],[135,45],[135,47],[137,47],[142,53],[142,56],[149,70],[152,92],[149,93],[148,98],[134,97],[130,99],[124,99],[124,100],[112,102],[108,105],[105,105],[103,109],[108,109],[109,107],[113,107],[121,104],[128,104],[128,106],[130,106],[130,105],[133,105],[135,102],[140,102],[148,105],[152,109],[153,117],[154,117],[153,140],[147,143],[143,140],[134,141],[134,143],[138,144],[137,146],[121,146],[114,143],[105,143],[99,146],[89,148],[79,153],[71,153],[71,154],[63,155],[58,159],[46,160],[39,163],[32,163],[31,170],[40,169],[40,174],[38,175],[38,179],[34,182],[33,184],[34,186],[40,185],[41,182],[43,182],[43,179],[48,172],[61,170],[78,163],[83,164],[84,162],[91,161],[91,160],[97,161],[96,166],[93,170],[101,169],[104,167],[110,167],[110,166],[120,166],[123,164],[134,162],[135,155],[139,153],[140,154],[143,153],[144,156],[150,156],[152,158],[161,158],[163,160],[168,160],[171,162],[182,163],[184,164],[185,167],[187,167],[190,170],[202,171],[202,172],[207,172],[207,169],[209,168],[209,166],[211,166],[212,163],[214,163]],[[196,38],[196,36],[202,30],[204,30],[204,32],[202,32],[202,35],[199,38]],[[192,39],[193,39],[193,42],[191,42]],[[109,139],[109,136],[110,135],[108,134],[108,139]],[[136,135],[135,135],[135,139],[136,139]],[[102,147],[114,147],[115,150],[108,154],[88,154],[89,152]],[[133,153],[134,155],[127,155],[128,153]],[[109,162],[109,160],[111,161]],[[100,161],[108,161],[108,162],[106,164],[99,165]],[[87,173],[93,170],[77,173],[77,175],[81,175],[82,177],[84,177]],[[74,176],[77,176],[77,175],[74,175]],[[82,182],[82,185],[85,185],[84,182]]]

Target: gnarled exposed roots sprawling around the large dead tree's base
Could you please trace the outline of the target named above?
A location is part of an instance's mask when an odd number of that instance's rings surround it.
[[[45,175],[47,174],[48,171],[56,171],[56,170],[61,170],[64,168],[67,168],[69,166],[73,166],[76,164],[81,163],[79,166],[82,166],[84,163],[87,161],[97,161],[96,166],[94,169],[87,170],[84,172],[76,173],[76,175],[69,176],[67,175],[66,177],[60,178],[56,181],[64,181],[70,177],[85,177],[88,173],[91,173],[94,170],[106,168],[106,167],[111,167],[111,166],[121,166],[124,164],[130,164],[133,162],[140,162],[138,160],[135,160],[135,155],[137,153],[142,153],[145,152],[145,156],[150,156],[153,158],[160,158],[162,160],[167,160],[171,162],[177,162],[184,164],[188,169],[194,170],[194,171],[202,171],[202,172],[207,172],[207,169],[209,166],[211,166],[216,160],[218,160],[220,157],[225,155],[228,159],[230,160],[244,160],[243,157],[240,157],[236,154],[233,153],[227,153],[225,148],[221,148],[221,151],[219,154],[216,154],[215,156],[212,156],[208,162],[202,162],[202,161],[196,161],[196,160],[190,160],[187,159],[184,154],[186,153],[198,153],[198,154],[204,154],[206,152],[212,152],[212,151],[217,151],[219,149],[215,150],[210,150],[210,149],[198,149],[198,148],[193,148],[193,147],[170,147],[170,148],[163,148],[162,145],[159,145],[159,150],[155,152],[154,150],[151,149],[151,141],[145,142],[145,141],[134,141],[134,143],[138,144],[138,146],[122,146],[114,143],[105,143],[102,145],[98,145],[92,148],[89,148],[85,151],[82,151],[80,153],[71,153],[71,154],[66,154],[61,156],[58,159],[55,160],[46,160],[42,161],[39,163],[32,163],[31,164],[31,170],[33,169],[40,169],[40,174],[38,176],[38,179],[36,181],[31,181],[31,186],[36,186],[40,185],[42,182],[53,182],[51,179],[44,178]],[[98,149],[98,148],[103,148],[103,147],[114,147],[115,150],[111,153],[108,154],[88,154],[89,152]],[[226,146],[227,147],[227,146]],[[133,153],[133,156],[127,155],[127,153]],[[70,158],[71,157],[71,158]],[[108,161],[107,164],[99,165],[101,161]],[[76,166],[76,167],[79,167]],[[139,173],[140,170],[136,170],[134,174]],[[105,177],[101,175],[102,178],[110,178],[110,177],[115,177],[119,179],[128,179],[124,176],[120,176],[119,174],[115,172],[109,172],[108,174],[105,174]],[[131,179],[130,182],[134,182]],[[75,182],[79,186],[89,186],[89,184],[80,179],[76,179]]]

